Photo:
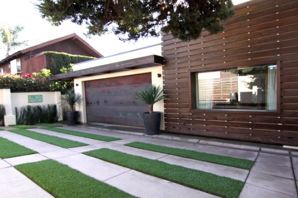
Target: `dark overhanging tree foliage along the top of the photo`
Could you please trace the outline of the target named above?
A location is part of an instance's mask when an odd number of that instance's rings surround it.
[[[89,35],[112,31],[122,40],[159,36],[160,30],[189,41],[224,30],[234,11],[231,0],[39,0],[43,18],[54,25],[86,23]],[[121,37],[122,36],[122,37]]]

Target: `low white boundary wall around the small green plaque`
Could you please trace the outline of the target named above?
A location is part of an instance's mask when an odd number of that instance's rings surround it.
[[[29,95],[41,95],[42,102],[29,102]],[[62,118],[62,107],[61,107],[61,92],[17,92],[10,93],[10,89],[0,89],[0,104],[5,107],[4,125],[15,125],[15,107],[23,107],[27,105],[48,105],[56,104],[57,111],[60,113],[59,121]]]

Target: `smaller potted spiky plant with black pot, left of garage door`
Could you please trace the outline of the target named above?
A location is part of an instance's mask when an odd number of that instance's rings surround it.
[[[71,108],[70,111],[65,112],[67,124],[76,125],[77,119],[79,117],[79,112],[74,111],[74,106],[83,100],[81,94],[74,93],[73,90],[69,90],[65,93],[64,97],[61,97],[61,100],[63,100],[66,104],[70,105],[70,108]]]

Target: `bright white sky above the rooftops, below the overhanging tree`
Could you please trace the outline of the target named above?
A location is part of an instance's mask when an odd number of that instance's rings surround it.
[[[247,0],[233,0],[238,4]],[[34,5],[38,0],[0,0],[0,25],[10,24],[12,27],[20,25],[24,29],[20,32],[17,41],[27,41],[27,46],[19,47],[10,52],[10,55],[53,39],[70,34],[77,34],[103,56],[161,43],[160,37],[139,39],[137,42],[120,41],[113,33],[102,36],[87,38],[84,33],[87,28],[79,26],[71,21],[64,21],[60,26],[53,26],[49,21],[41,17],[40,12]],[[5,58],[4,45],[0,43],[0,60]]]

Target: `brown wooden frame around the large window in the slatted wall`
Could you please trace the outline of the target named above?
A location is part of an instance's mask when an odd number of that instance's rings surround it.
[[[272,62],[274,63],[274,62]],[[270,64],[270,63],[265,63]],[[281,62],[277,61],[277,110],[268,111],[268,110],[249,110],[249,109],[196,109],[196,73],[198,72],[211,72],[211,71],[221,71],[224,69],[232,68],[246,68],[252,66],[264,65],[264,63],[250,65],[250,66],[229,66],[229,67],[204,67],[198,69],[189,70],[189,109],[190,113],[224,113],[224,114],[239,114],[239,113],[249,113],[255,115],[280,115],[281,114]]]

